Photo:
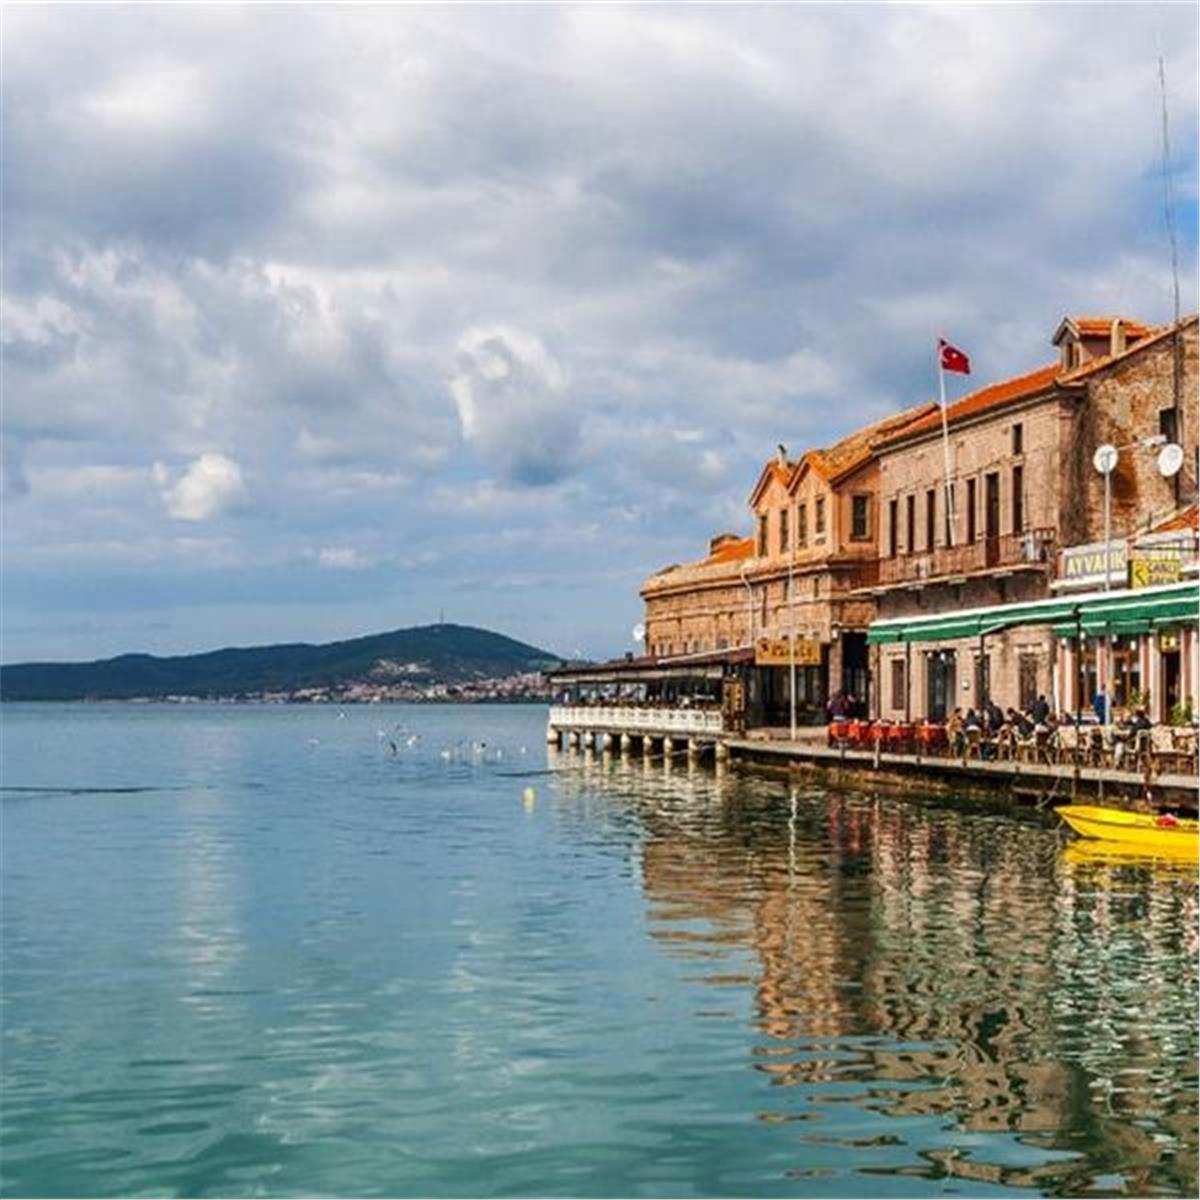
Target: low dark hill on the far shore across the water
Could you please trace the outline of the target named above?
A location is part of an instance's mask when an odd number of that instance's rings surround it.
[[[540,671],[548,650],[470,625],[424,625],[348,642],[258,646],[97,662],[20,662],[0,667],[4,700],[132,700],[246,696],[354,683],[462,684]]]

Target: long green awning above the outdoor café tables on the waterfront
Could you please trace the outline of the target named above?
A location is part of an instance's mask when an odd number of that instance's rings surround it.
[[[866,640],[936,642],[998,634],[1020,625],[1050,625],[1060,637],[1147,634],[1164,625],[1200,620],[1200,583],[1168,583],[1138,590],[1090,592],[1026,604],[994,605],[875,622]]]

